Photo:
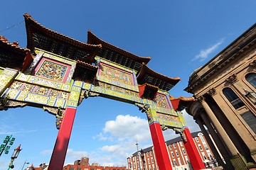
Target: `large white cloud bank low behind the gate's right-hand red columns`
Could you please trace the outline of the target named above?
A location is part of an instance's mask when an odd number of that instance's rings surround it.
[[[183,111],[188,128],[191,132],[199,130],[191,115]],[[164,139],[171,140],[178,135],[174,130],[164,131]],[[94,152],[78,152],[68,149],[65,162],[73,164],[74,160],[82,156],[90,157],[91,163],[99,163],[102,166],[126,166],[127,157],[138,149],[151,147],[151,134],[149,123],[143,118],[132,115],[117,115],[115,120],[109,120],[102,128],[102,132],[93,137],[103,145]],[[66,164],[66,163],[65,163]]]

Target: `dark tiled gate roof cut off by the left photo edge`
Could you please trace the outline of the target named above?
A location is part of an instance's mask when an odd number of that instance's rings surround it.
[[[23,60],[29,49],[19,47],[18,42],[9,42],[0,35],[0,67],[21,69]]]

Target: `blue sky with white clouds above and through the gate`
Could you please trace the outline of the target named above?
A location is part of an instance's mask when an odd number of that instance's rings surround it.
[[[256,1],[1,1],[0,35],[26,47],[23,13],[41,25],[87,42],[87,30],[110,44],[141,57],[151,57],[151,69],[167,77],[181,77],[169,91],[192,96],[183,89],[191,73],[227,47],[255,23]],[[42,108],[13,108],[0,113],[0,142],[16,137],[9,154],[0,157],[7,169],[11,154],[21,144],[14,169],[50,161],[58,130],[55,117]],[[199,130],[187,113],[188,128]],[[172,130],[165,140],[178,137]],[[76,113],[65,164],[90,157],[90,164],[127,166],[127,157],[152,145],[146,115],[136,106],[107,98],[87,98]],[[27,166],[27,164],[26,164]],[[25,166],[25,167],[26,167]]]

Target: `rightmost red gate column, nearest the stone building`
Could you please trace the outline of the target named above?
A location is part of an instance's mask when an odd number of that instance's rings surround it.
[[[186,147],[186,151],[188,153],[188,157],[193,167],[193,170],[206,169],[206,166],[203,164],[203,160],[200,157],[198,149],[196,149],[196,145],[193,142],[191,132],[188,130],[188,128],[185,128],[183,133],[185,134],[187,140],[187,142],[183,142]]]

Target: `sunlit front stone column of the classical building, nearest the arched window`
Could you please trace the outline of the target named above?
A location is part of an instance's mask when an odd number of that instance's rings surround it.
[[[203,100],[203,96],[198,98],[198,100],[201,102],[203,108],[205,109],[207,115],[209,116],[211,123],[213,123],[214,127],[216,128],[220,136],[223,138],[232,156],[237,155],[239,153],[238,149],[235,147],[232,140],[230,140],[230,137],[228,137],[228,134],[225,132],[224,128],[222,127],[218,119],[215,117],[213,111],[210,109],[206,101]]]

